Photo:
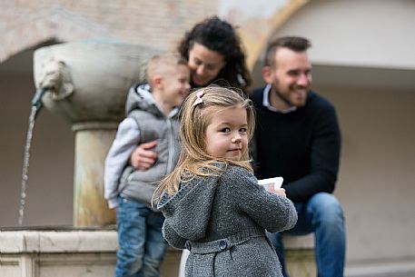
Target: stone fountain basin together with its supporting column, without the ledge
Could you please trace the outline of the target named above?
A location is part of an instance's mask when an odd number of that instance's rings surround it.
[[[115,223],[104,200],[104,159],[124,118],[129,88],[143,82],[143,67],[159,51],[144,45],[73,42],[35,51],[36,89],[75,132],[74,226]],[[51,164],[53,167],[53,164]]]

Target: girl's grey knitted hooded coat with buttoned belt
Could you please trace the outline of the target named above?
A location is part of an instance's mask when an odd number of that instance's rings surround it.
[[[281,277],[281,265],[265,230],[291,229],[297,213],[291,201],[268,193],[252,173],[228,165],[221,176],[182,183],[163,193],[163,236],[190,250],[186,277]]]

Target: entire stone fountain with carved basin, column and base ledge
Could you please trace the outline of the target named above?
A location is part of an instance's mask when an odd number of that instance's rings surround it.
[[[114,212],[104,200],[104,159],[128,89],[143,81],[143,65],[158,52],[104,41],[35,51],[33,105],[63,115],[75,133],[74,226],[1,231],[0,276],[114,276],[118,244]],[[174,276],[179,259],[180,252],[170,250],[162,275]]]

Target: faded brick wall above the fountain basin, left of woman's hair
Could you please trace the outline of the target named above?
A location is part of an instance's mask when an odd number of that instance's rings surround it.
[[[172,49],[217,0],[0,0],[0,63],[45,41],[115,40]]]

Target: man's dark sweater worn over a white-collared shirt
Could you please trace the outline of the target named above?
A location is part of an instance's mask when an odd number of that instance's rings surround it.
[[[287,114],[263,106],[263,88],[255,89],[251,98],[257,111],[257,178],[282,176],[282,187],[293,203],[305,202],[315,193],[332,193],[341,151],[334,107],[311,91],[305,106]]]

